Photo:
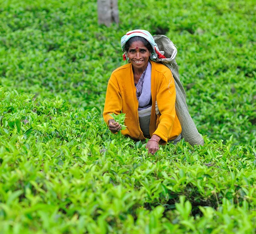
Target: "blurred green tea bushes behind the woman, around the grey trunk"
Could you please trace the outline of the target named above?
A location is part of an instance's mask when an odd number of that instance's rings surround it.
[[[102,110],[120,38],[132,29],[177,46],[180,79],[199,132],[254,145],[256,30],[253,0],[119,0],[119,26],[98,26],[89,0],[0,1],[0,85],[59,95],[74,109]]]

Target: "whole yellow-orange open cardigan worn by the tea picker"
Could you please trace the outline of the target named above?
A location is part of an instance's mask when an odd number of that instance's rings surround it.
[[[180,121],[175,111],[175,81],[170,69],[163,64],[151,62],[151,96],[152,110],[149,124],[150,136],[153,134],[161,138],[161,144],[175,139],[181,133]],[[160,111],[155,112],[155,103]],[[106,124],[112,118],[108,113],[125,113],[125,125],[122,134],[133,139],[143,140],[143,132],[140,129],[139,102],[136,98],[136,87],[132,65],[125,64],[114,70],[108,81],[103,118]]]

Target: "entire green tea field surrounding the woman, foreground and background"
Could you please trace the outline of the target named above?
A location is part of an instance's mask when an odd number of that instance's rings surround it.
[[[0,0],[0,233],[254,234],[252,0]],[[146,142],[102,119],[128,30],[167,35],[204,146]]]

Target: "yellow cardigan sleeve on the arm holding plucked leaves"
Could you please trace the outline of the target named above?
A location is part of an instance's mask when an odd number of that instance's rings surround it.
[[[103,110],[103,118],[106,124],[108,125],[108,121],[110,119],[113,119],[109,114],[115,113],[116,115],[118,115],[121,113],[121,110],[122,110],[121,92],[118,87],[116,78],[112,74],[111,78],[108,81],[105,106]]]

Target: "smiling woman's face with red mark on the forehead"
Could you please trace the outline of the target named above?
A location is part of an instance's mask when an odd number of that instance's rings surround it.
[[[134,68],[145,69],[148,66],[148,59],[151,53],[141,41],[134,41],[127,52],[128,58]]]

